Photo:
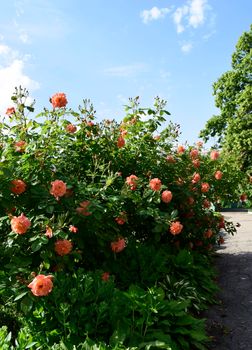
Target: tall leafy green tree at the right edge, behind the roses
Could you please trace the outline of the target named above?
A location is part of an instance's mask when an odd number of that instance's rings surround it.
[[[205,140],[218,137],[217,144],[237,166],[252,174],[252,25],[238,40],[232,69],[213,84],[219,115],[210,118],[200,132]]]

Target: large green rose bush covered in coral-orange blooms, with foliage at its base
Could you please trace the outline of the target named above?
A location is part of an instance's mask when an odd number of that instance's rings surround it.
[[[240,195],[242,174],[217,150],[178,146],[178,125],[157,135],[169,115],[158,98],[98,123],[90,101],[76,112],[64,93],[32,119],[27,96],[16,90],[0,125],[1,301],[42,349],[88,337],[202,349],[203,322],[188,312],[213,300],[211,251],[220,228],[235,231],[211,207]],[[194,304],[188,291],[170,298],[168,274],[188,281]]]

